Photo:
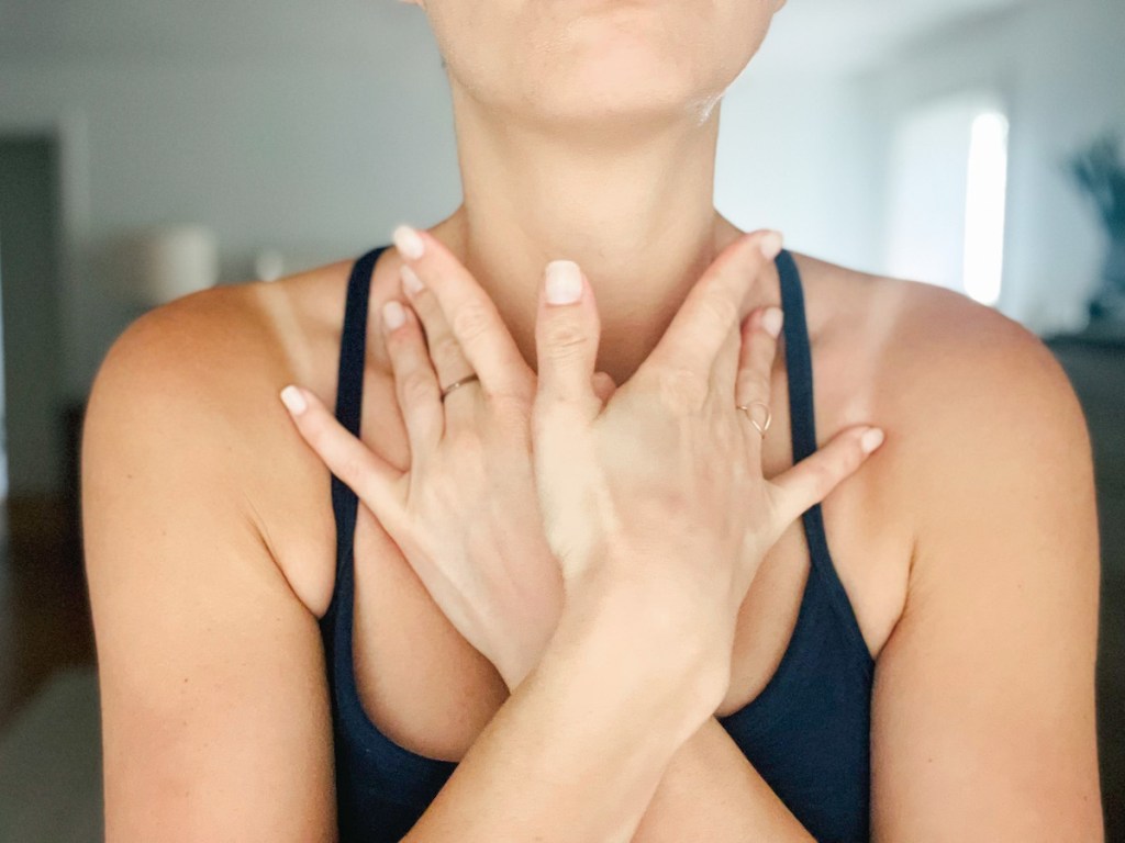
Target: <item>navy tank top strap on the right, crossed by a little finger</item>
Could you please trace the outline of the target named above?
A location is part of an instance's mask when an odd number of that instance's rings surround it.
[[[783,335],[785,338],[785,369],[789,379],[790,434],[793,438],[793,464],[811,456],[817,451],[817,420],[812,389],[812,348],[809,341],[809,324],[804,308],[804,290],[801,273],[793,255],[782,250],[775,259],[781,278],[782,310],[785,314]],[[825,517],[820,504],[814,504],[801,516],[804,537],[809,544],[811,565],[810,584],[816,580],[832,604],[845,629],[845,635],[865,663],[871,663],[871,651],[863,637],[852,601],[844,583],[836,572],[828,537],[825,534]],[[816,577],[813,578],[813,574]]]

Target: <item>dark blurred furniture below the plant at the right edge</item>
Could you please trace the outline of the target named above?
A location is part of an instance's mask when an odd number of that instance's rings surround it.
[[[1106,840],[1125,841],[1125,325],[1045,337],[1070,377],[1094,448],[1101,537],[1098,754]]]

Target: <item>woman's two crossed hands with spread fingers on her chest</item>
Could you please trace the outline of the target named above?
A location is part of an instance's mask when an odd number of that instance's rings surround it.
[[[398,301],[384,306],[410,471],[371,452],[315,395],[287,389],[302,435],[510,688],[538,663],[564,595],[590,582],[631,581],[634,593],[638,581],[658,582],[695,596],[686,625],[718,619],[712,647],[728,653],[734,617],[780,531],[882,442],[861,425],[763,482],[762,429],[737,408],[768,406],[783,314],[741,311],[780,236],[759,232],[726,250],[620,389],[593,370],[597,307],[577,265],[576,298],[541,297],[536,372],[471,275],[436,241],[411,236],[425,247],[415,264],[425,282],[404,266],[404,287],[423,316],[408,318]],[[443,402],[440,384],[467,371],[478,381]],[[736,507],[747,515],[729,518]],[[691,525],[687,535],[681,525]],[[664,551],[654,551],[672,547],[676,566],[658,572]],[[637,559],[646,560],[639,571]],[[738,564],[709,571],[709,559]],[[677,570],[684,560],[690,568]],[[656,614],[673,611],[656,601]]]

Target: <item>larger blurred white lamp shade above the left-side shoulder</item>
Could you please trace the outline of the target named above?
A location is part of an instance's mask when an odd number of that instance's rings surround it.
[[[137,236],[129,248],[130,298],[164,305],[218,282],[218,238],[205,226],[170,226]]]

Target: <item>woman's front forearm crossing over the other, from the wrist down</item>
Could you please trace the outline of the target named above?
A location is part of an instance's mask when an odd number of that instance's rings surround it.
[[[632,839],[710,695],[610,604],[564,616],[406,843]]]

